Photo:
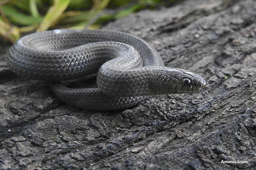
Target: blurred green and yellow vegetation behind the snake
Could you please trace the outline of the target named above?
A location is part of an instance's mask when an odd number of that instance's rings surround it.
[[[56,28],[97,29],[140,9],[176,0],[0,0],[0,36],[15,42],[22,33]]]

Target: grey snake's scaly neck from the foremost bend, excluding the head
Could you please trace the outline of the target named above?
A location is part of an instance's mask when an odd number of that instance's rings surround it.
[[[104,66],[98,71],[97,85],[106,95],[131,97],[171,93],[167,90],[166,81],[169,79],[166,79],[165,68],[162,66],[119,69],[111,72],[103,69]]]

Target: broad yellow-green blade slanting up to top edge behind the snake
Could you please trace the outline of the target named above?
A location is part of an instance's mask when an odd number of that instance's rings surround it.
[[[59,16],[65,11],[69,5],[70,0],[54,0],[54,5],[50,7],[48,12],[43,19],[43,22],[39,25],[37,31],[45,31],[50,26],[54,25],[58,20]]]

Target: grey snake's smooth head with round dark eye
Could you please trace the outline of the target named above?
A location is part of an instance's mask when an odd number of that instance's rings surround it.
[[[193,71],[164,68],[161,71],[161,82],[163,82],[163,93],[195,93],[206,87],[205,80]]]

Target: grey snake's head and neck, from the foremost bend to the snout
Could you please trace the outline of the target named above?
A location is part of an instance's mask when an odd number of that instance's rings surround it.
[[[111,96],[195,93],[206,86],[200,75],[184,69],[146,66],[104,72],[102,69],[108,70],[104,67],[98,72],[97,85],[100,91]]]

